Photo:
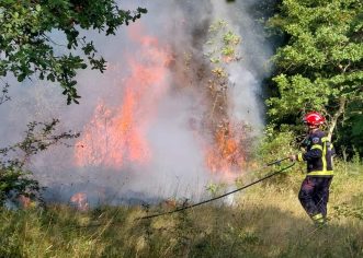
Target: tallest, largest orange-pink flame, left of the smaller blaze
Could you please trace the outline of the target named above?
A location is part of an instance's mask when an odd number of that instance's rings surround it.
[[[132,31],[132,38],[140,44],[140,49],[128,58],[132,72],[124,81],[122,105],[115,110],[103,103],[98,105],[77,144],[75,155],[79,166],[121,167],[125,161],[144,164],[151,159],[146,132],[157,103],[168,90],[170,55],[157,38],[141,37],[138,31],[139,27]]]

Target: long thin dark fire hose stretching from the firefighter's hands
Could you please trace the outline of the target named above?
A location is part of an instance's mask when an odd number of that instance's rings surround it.
[[[264,166],[260,167],[257,171],[262,171],[263,168],[266,168],[266,167],[273,166],[273,165],[280,165],[281,162],[286,161],[290,157],[284,157],[284,159],[281,159],[281,160],[276,160],[274,162],[270,162],[270,163],[265,164]],[[183,207],[180,207],[180,208],[178,208],[175,210],[172,210],[172,211],[167,211],[167,212],[156,213],[156,214],[151,214],[151,215],[140,216],[140,218],[137,218],[136,220],[146,220],[146,219],[152,219],[152,218],[157,218],[157,216],[161,216],[161,215],[168,215],[168,214],[177,213],[177,212],[184,211],[184,210],[188,210],[188,209],[197,207],[197,206],[202,206],[202,204],[207,203],[207,202],[212,202],[212,201],[222,199],[222,198],[224,198],[226,196],[229,196],[229,195],[235,194],[237,191],[241,191],[241,190],[243,190],[243,189],[246,189],[248,187],[251,187],[251,186],[253,186],[253,185],[256,185],[256,184],[258,184],[260,181],[263,181],[263,180],[265,180],[265,179],[268,179],[270,177],[273,177],[273,176],[275,176],[275,175],[277,175],[277,174],[280,174],[280,173],[282,173],[282,172],[284,172],[284,171],[286,171],[288,168],[291,168],[294,165],[295,165],[295,162],[293,164],[288,165],[288,166],[285,166],[285,167],[281,168],[280,171],[272,172],[272,173],[268,174],[266,176],[264,176],[264,177],[262,177],[262,178],[260,178],[260,179],[258,179],[256,181],[252,181],[252,183],[250,183],[248,185],[245,185],[245,186],[242,186],[240,188],[237,188],[237,189],[235,189],[232,191],[228,191],[228,192],[226,192],[226,194],[224,194],[222,196],[217,196],[217,197],[214,197],[214,198],[211,198],[211,199],[207,199],[207,200],[204,200],[204,201],[194,203],[194,204],[183,206]],[[257,171],[254,171],[254,172],[257,172]]]

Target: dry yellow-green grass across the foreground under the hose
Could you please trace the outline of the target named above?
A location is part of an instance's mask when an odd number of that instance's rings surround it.
[[[317,230],[297,200],[304,175],[291,173],[206,204],[136,220],[143,207],[67,206],[0,211],[1,257],[363,257],[363,173],[337,164],[329,225]],[[356,168],[356,166],[354,166]],[[341,173],[339,173],[341,172]],[[154,207],[163,211],[166,206]]]

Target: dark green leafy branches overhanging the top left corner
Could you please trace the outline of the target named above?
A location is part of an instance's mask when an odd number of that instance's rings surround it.
[[[67,104],[78,103],[77,71],[88,66],[100,72],[105,70],[105,60],[97,57],[93,43],[80,37],[80,31],[114,35],[122,24],[128,25],[146,12],[143,8],[122,10],[114,0],[2,0],[0,79],[10,73],[20,82],[33,75],[57,82]],[[67,46],[53,40],[54,31],[64,34]],[[55,46],[64,47],[66,54],[57,55]],[[84,55],[76,55],[75,50]]]

